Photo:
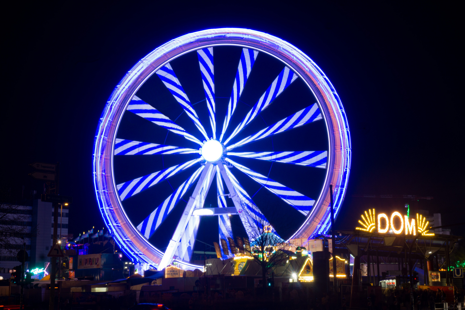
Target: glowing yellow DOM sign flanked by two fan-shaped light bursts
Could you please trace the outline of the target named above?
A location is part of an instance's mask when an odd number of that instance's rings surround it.
[[[362,220],[359,220],[359,224],[362,227],[356,227],[359,231],[379,233],[394,233],[405,235],[417,235],[417,231],[422,236],[434,236],[434,233],[428,233],[429,222],[421,214],[417,213],[417,218],[409,219],[407,215],[402,216],[398,211],[392,212],[391,216],[388,217],[385,213],[379,213],[378,216],[375,214],[375,209],[368,209],[365,211],[365,216],[361,215]]]

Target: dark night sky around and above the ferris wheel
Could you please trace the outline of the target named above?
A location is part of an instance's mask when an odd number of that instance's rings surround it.
[[[463,222],[460,10],[438,2],[321,2],[10,6],[2,16],[2,183],[40,190],[27,176],[28,164],[59,161],[60,193],[74,200],[70,232],[102,227],[92,153],[106,99],[139,59],[166,41],[233,26],[297,46],[339,93],[353,156],[339,228],[353,228],[368,207],[394,210],[405,203],[441,212],[443,224]],[[434,199],[351,197],[359,194]],[[462,235],[464,227],[452,231]]]

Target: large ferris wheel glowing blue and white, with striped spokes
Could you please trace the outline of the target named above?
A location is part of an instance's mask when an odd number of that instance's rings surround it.
[[[265,219],[285,239],[328,231],[329,185],[337,215],[350,160],[345,112],[321,69],[284,40],[221,28],[174,39],[131,68],[100,117],[93,174],[128,257],[193,269],[204,215],[220,214],[207,227],[217,239],[237,233],[232,220]],[[292,231],[280,232],[286,217]]]

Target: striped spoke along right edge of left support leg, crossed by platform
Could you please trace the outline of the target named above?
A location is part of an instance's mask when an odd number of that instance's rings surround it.
[[[213,178],[215,172],[216,170],[214,170],[213,165],[210,165],[207,177],[203,180],[202,189],[199,192],[199,195],[197,195],[197,197],[195,198],[194,210],[197,208],[204,207],[205,198],[211,185],[211,179]],[[189,222],[187,223],[186,229],[181,235],[179,246],[175,251],[174,255],[186,262],[190,261],[192,257],[195,244],[195,237],[197,237],[197,231],[199,230],[199,224],[200,217],[198,215],[192,215],[189,218]]]

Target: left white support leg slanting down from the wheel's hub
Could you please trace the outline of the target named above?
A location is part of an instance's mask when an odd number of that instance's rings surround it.
[[[196,200],[198,200],[197,199],[198,195],[206,187],[206,193],[205,193],[205,196],[206,196],[206,194],[208,193],[208,190],[210,189],[210,185],[212,185],[212,180],[216,173],[216,169],[213,169],[213,168],[214,168],[213,165],[208,163],[206,164],[205,169],[202,171],[199,181],[197,181],[197,184],[195,185],[192,196],[189,197],[189,201],[187,201],[186,208],[184,208],[184,212],[182,213],[178,226],[176,226],[176,230],[173,233],[173,237],[171,238],[168,244],[168,247],[166,248],[165,254],[163,255],[163,258],[161,259],[158,270],[162,270],[163,268],[171,264],[171,261],[173,260],[173,255],[179,246],[181,235],[186,230],[187,224],[189,223],[189,219],[192,216],[192,212],[194,208],[196,207],[195,202]],[[210,177],[208,184],[204,185],[206,178],[208,178],[210,173],[212,173],[212,176]],[[203,207],[203,205],[198,206],[198,207],[201,208]]]

